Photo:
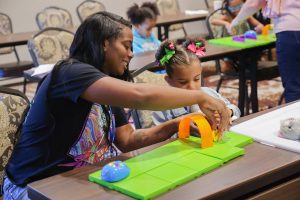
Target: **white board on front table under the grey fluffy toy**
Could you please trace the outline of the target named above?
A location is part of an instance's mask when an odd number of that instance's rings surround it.
[[[231,127],[230,130],[248,135],[262,144],[300,153],[299,140],[289,140],[278,136],[280,121],[290,117],[300,118],[300,102],[240,123]]]

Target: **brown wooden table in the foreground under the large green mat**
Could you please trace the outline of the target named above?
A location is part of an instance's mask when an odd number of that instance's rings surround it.
[[[276,109],[276,108],[275,108]],[[241,118],[244,121],[261,113]],[[126,160],[162,144],[152,145],[115,158]],[[157,199],[297,199],[300,195],[300,154],[253,143],[246,154]],[[108,161],[107,161],[108,162]],[[102,163],[103,165],[104,163]],[[131,199],[87,180],[99,165],[86,166],[28,185],[32,199]]]

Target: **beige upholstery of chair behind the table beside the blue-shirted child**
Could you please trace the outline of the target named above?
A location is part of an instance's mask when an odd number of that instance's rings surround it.
[[[177,0],[157,0],[156,1],[160,15],[176,15],[180,13]],[[169,31],[184,30],[183,24],[174,24],[169,27]]]

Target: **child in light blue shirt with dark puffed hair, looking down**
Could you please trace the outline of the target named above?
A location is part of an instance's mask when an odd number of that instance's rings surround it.
[[[157,50],[160,41],[152,33],[159,15],[155,3],[145,2],[139,7],[137,4],[131,6],[127,16],[133,24],[133,54]]]

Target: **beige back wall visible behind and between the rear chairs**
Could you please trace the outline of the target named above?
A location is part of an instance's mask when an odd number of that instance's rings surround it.
[[[14,32],[38,30],[35,15],[47,6],[57,6],[70,11],[73,23],[79,25],[76,7],[83,0],[0,0],[0,12],[6,13],[12,19]],[[100,0],[107,11],[126,17],[126,10],[133,3],[141,4],[147,0]],[[150,0],[154,1],[154,0]],[[212,1],[212,0],[210,0]],[[204,0],[178,0],[182,11],[185,9],[206,9]],[[185,24],[188,33],[205,33],[206,28],[202,22]],[[179,37],[182,32],[171,34],[170,37]],[[31,59],[26,46],[17,47],[21,59]],[[13,60],[13,56],[0,56],[0,63]]]

